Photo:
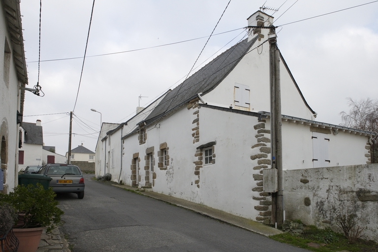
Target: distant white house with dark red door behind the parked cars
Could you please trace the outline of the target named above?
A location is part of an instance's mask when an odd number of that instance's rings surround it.
[[[55,153],[55,146],[43,146],[43,129],[40,120],[35,124],[22,123],[18,152],[19,170],[25,169],[28,165],[67,162],[63,155]]]

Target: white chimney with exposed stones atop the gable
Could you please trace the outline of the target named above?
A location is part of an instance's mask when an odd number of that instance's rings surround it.
[[[253,13],[248,20],[248,26],[260,26],[260,27],[269,27],[273,24],[273,17],[269,16],[268,14],[258,10]],[[248,42],[251,41],[253,38],[258,36],[258,41],[265,41],[268,39],[268,33],[270,29],[262,29],[262,28],[249,28],[248,29]]]

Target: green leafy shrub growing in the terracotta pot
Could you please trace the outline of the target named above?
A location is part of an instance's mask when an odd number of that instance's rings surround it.
[[[18,213],[17,228],[47,227],[47,232],[61,222],[63,211],[58,208],[52,188],[42,185],[18,185],[14,192],[0,194],[0,202],[11,204]]]

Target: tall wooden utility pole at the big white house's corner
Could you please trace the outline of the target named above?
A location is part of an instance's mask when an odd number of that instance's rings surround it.
[[[272,138],[272,168],[277,169],[278,192],[272,193],[272,222],[282,227],[284,223],[284,188],[282,172],[282,118],[280,87],[280,51],[277,48],[276,28],[268,34],[270,53],[270,118]]]

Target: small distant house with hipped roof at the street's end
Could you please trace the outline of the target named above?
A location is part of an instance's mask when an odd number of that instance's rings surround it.
[[[68,152],[65,157],[68,159]],[[81,144],[71,150],[71,164],[79,166],[81,170],[95,171],[95,153]]]

